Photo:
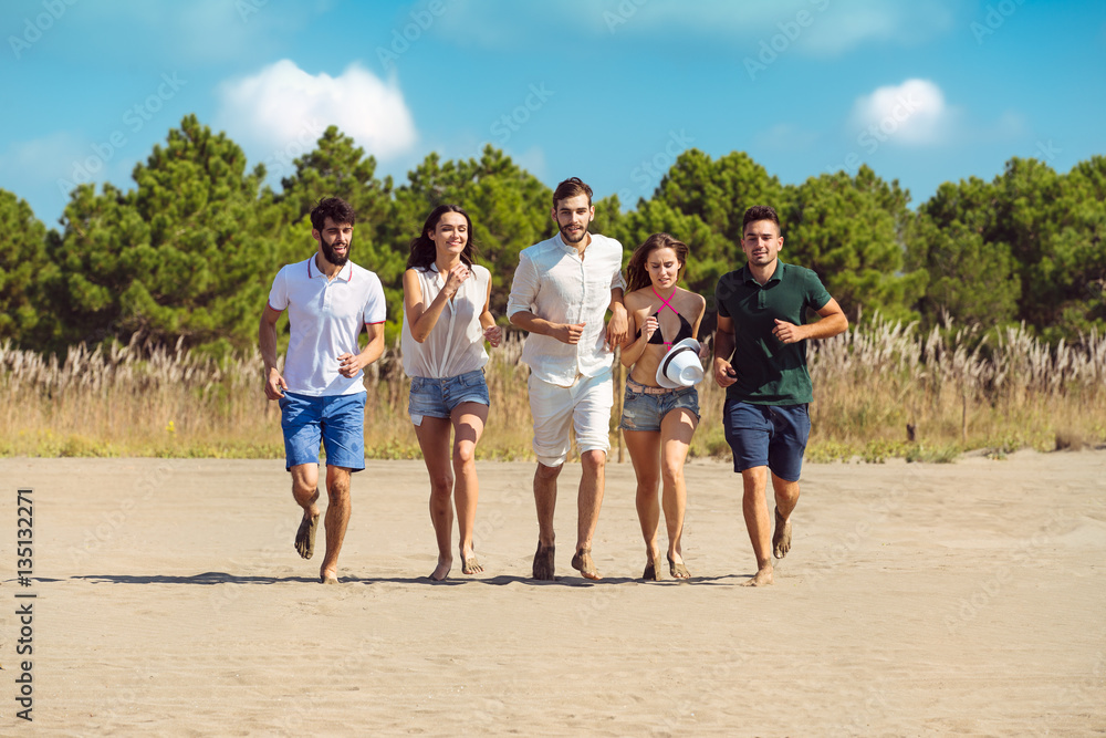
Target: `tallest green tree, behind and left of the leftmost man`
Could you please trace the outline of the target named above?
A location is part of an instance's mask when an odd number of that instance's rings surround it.
[[[55,242],[64,340],[255,341],[275,256],[246,155],[190,115],[135,167],[135,190],[77,187]]]

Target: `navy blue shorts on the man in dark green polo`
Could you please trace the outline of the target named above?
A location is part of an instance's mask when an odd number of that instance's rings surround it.
[[[781,479],[799,481],[811,436],[806,405],[753,405],[727,399],[722,426],[733,451],[734,471],[766,466]]]

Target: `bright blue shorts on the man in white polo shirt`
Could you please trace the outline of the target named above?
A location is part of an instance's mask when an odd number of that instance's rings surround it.
[[[312,397],[285,392],[280,398],[280,427],[284,430],[284,468],[319,464],[319,443],[326,465],[351,471],[365,468],[366,393]]]

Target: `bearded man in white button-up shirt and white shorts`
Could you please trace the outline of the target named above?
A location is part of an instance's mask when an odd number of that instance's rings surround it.
[[[530,332],[522,361],[530,366],[534,416],[534,501],[538,552],[534,579],[553,579],[553,510],[556,478],[568,456],[568,425],[576,432],[583,474],[577,498],[573,568],[599,579],[592,538],[603,503],[603,476],[611,447],[614,346],[626,337],[622,245],[588,233],[595,218],[592,188],[572,177],[553,193],[553,238],[524,249],[514,272],[507,313]],[[611,323],[604,330],[607,309]]]

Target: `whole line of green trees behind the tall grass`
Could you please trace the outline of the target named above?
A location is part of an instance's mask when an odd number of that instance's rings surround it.
[[[76,186],[60,230],[0,189],[0,341],[59,353],[134,339],[216,356],[248,350],[276,270],[314,251],[306,215],[324,196],[356,208],[351,258],[384,283],[389,340],[408,243],[437,205],[472,217],[501,318],[519,251],[555,232],[552,190],[490,145],[479,159],[430,154],[397,184],[332,126],[293,164],[280,193],[263,186],[263,165],[248,169],[233,141],[189,115],[135,166],[134,188]],[[691,250],[685,284],[712,308],[718,278],[744,262],[742,214],[769,204],[781,259],[814,269],[854,319],[878,311],[984,331],[1023,322],[1053,343],[1106,332],[1106,157],[1066,174],[1012,158],[991,181],[946,183],[916,210],[909,201],[867,166],[783,185],[748,154],[692,148],[632,209],[614,195],[596,200],[593,231],[622,241],[627,258],[653,232],[680,238]]]

